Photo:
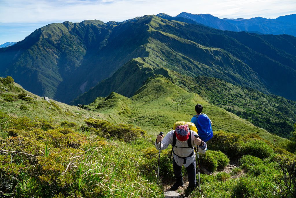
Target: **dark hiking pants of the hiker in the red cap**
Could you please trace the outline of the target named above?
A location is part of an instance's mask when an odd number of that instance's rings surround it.
[[[184,164],[186,163],[186,159],[184,159]],[[175,159],[173,158],[173,169],[176,177],[176,182],[182,180],[182,167],[179,166]],[[196,187],[196,161],[194,160],[188,167],[186,167],[189,187],[194,189]]]

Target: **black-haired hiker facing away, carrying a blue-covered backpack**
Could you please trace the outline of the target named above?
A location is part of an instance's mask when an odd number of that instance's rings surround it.
[[[202,109],[201,104],[195,105],[196,115],[192,117],[191,122],[196,126],[199,137],[207,142],[213,137],[212,121],[206,114],[202,113]]]

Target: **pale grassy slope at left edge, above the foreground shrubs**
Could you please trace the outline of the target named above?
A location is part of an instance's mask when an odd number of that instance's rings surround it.
[[[3,79],[3,78],[1,78]],[[21,94],[24,94],[23,97]],[[30,97],[26,97],[30,96]],[[20,99],[22,98],[22,99]],[[103,114],[84,110],[50,99],[50,103],[43,97],[32,94],[17,83],[3,84],[0,81],[0,111],[12,117],[50,119],[54,123],[70,121],[82,124],[84,119],[104,119]],[[99,116],[98,116],[99,115]]]

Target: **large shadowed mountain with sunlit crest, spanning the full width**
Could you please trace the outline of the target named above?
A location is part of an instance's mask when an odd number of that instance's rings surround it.
[[[153,67],[295,100],[296,91],[289,89],[296,84],[295,46],[292,36],[220,31],[153,15],[123,23],[64,22],[0,49],[0,74],[68,103],[139,57]]]

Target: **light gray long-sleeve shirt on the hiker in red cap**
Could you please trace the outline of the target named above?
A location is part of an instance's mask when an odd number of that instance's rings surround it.
[[[166,148],[168,148],[168,145],[173,145],[173,135],[174,135],[175,130],[171,130],[170,132],[168,132],[168,134],[163,138],[163,140],[161,141],[161,150],[164,150]],[[194,135],[197,135],[196,132],[191,131],[191,145],[194,145]],[[204,142],[205,145],[203,145],[203,149],[199,146],[198,147],[198,152],[204,154],[207,151],[207,144],[206,142]],[[194,145],[196,146],[196,145]],[[176,163],[178,164],[178,166],[182,166],[184,165],[184,167],[188,167],[195,159],[195,153],[190,156],[187,157],[189,155],[191,155],[193,149],[192,148],[178,148],[178,147],[188,147],[188,143],[187,141],[180,141],[176,140],[176,147],[173,148],[173,158],[175,159]],[[155,142],[155,148],[157,150],[159,150],[159,142],[156,143]],[[180,158],[180,157],[185,157],[186,158],[186,164],[184,164],[184,159]]]

